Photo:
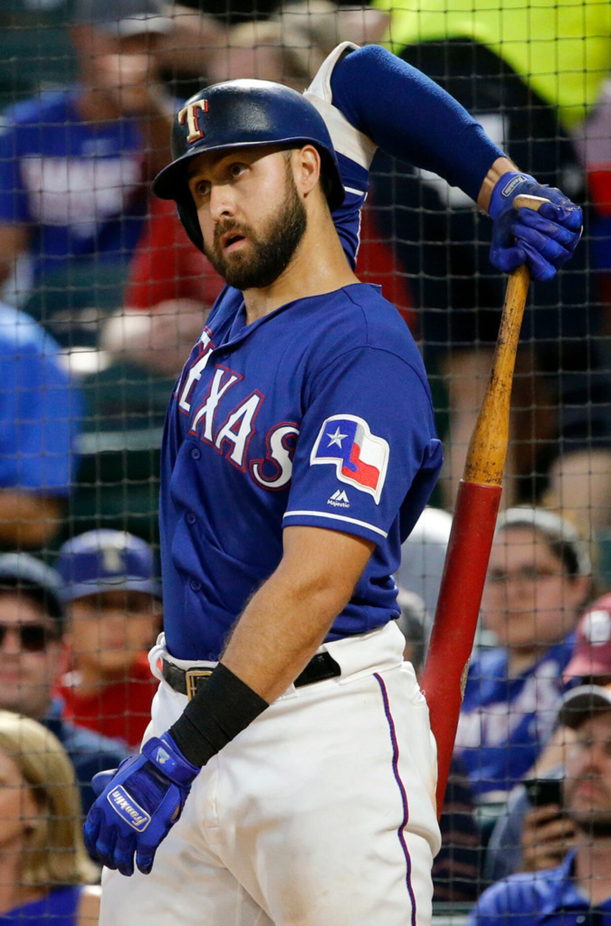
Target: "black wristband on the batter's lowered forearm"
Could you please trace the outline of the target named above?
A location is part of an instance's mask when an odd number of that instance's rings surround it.
[[[266,707],[267,701],[220,662],[169,732],[187,761],[203,766]]]

